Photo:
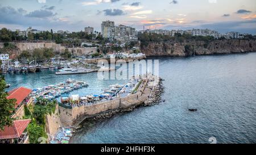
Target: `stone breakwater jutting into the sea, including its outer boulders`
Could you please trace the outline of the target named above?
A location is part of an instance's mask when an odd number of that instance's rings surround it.
[[[142,83],[137,93],[130,94],[127,97],[115,98],[106,102],[93,104],[91,106],[81,106],[64,108],[57,107],[55,120],[58,123],[52,123],[49,116],[47,122],[47,131],[55,135],[57,128],[77,127],[81,122],[88,119],[111,118],[119,112],[133,111],[138,106],[150,106],[160,102],[160,94],[163,93],[162,82],[159,77],[148,76],[142,79]]]

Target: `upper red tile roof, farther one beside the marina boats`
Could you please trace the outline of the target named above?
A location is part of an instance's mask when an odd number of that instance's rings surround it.
[[[27,89],[25,87],[18,87],[12,91],[9,91],[9,96],[7,97],[7,99],[16,99],[16,105],[15,108],[19,106],[20,103],[22,103],[22,101],[24,99],[26,99],[26,97],[32,92],[31,89]]]

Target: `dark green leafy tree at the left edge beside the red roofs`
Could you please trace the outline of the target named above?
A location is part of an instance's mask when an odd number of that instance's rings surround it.
[[[16,99],[7,99],[8,94],[5,92],[5,79],[0,79],[0,129],[3,129],[6,125],[13,124],[13,111],[15,110]]]

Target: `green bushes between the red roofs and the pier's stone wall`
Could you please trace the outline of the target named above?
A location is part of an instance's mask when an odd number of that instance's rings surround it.
[[[32,119],[32,122],[28,125],[27,128],[30,143],[40,143],[40,137],[47,139],[48,136],[45,130],[46,115],[51,115],[55,112],[56,104],[56,100],[51,102],[47,99],[38,98],[33,107],[25,108],[25,117]]]

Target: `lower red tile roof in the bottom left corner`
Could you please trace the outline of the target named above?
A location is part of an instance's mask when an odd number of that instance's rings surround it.
[[[19,138],[30,121],[31,119],[14,120],[13,125],[10,127],[6,126],[3,130],[0,129],[0,140]]]

